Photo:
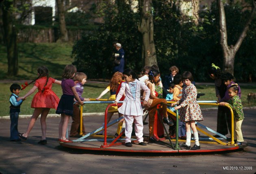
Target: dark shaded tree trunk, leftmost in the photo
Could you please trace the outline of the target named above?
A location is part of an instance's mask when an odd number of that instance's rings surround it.
[[[13,25],[13,11],[11,10],[13,2],[5,0],[2,5],[2,17],[4,28],[4,39],[7,45],[8,72],[7,76],[16,76],[18,74],[18,48],[17,35]]]

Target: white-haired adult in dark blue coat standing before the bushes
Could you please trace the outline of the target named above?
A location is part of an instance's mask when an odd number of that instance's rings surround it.
[[[115,53],[115,67],[113,72],[124,72],[124,49],[120,43],[115,44],[115,49],[117,50],[117,53]]]

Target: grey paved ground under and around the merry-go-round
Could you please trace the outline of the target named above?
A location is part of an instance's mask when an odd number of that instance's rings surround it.
[[[201,123],[216,129],[217,110],[203,110]],[[47,145],[40,145],[41,127],[37,120],[26,142],[9,141],[9,120],[0,120],[1,174],[254,174],[256,172],[256,109],[244,110],[242,131],[249,143],[243,151],[220,154],[132,154],[93,152],[67,149],[57,142],[60,118],[47,119]],[[117,115],[113,116],[116,119]],[[88,132],[101,126],[104,117],[84,117]],[[29,119],[19,119],[19,131],[24,132]],[[71,121],[69,121],[71,123]],[[69,127],[70,127],[69,123]],[[109,131],[114,133],[116,125]],[[148,135],[148,125],[144,126]],[[228,135],[230,137],[230,135]],[[201,144],[204,146],[204,144]],[[136,148],[136,146],[135,146]],[[248,170],[223,170],[223,167],[242,167]],[[249,168],[244,168],[249,167]]]

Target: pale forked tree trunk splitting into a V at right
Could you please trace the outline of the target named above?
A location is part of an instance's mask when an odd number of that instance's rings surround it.
[[[236,41],[236,44],[228,45],[228,33],[226,28],[226,16],[225,16],[225,10],[223,5],[223,0],[218,0],[218,6],[219,6],[219,26],[220,26],[220,34],[221,34],[221,48],[223,52],[223,70],[230,72],[231,74],[234,74],[234,57],[236,55],[236,52],[239,50],[239,47],[241,46],[247,31],[249,30],[249,25],[254,18],[254,13],[256,11],[256,1],[252,0],[253,7],[251,14],[249,18],[247,19],[247,22],[245,23],[245,27],[243,28],[243,31],[241,32],[238,40]]]

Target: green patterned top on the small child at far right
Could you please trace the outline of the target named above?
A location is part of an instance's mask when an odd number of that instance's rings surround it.
[[[239,98],[239,96],[235,95],[234,97],[230,98],[230,100],[228,100],[228,103],[230,104],[234,112],[234,119],[235,120],[244,119],[242,101]]]

